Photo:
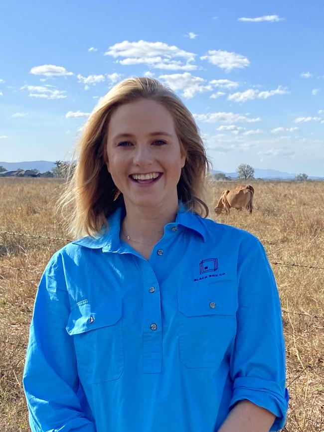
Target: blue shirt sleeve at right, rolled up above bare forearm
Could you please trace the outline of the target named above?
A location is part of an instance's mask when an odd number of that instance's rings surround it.
[[[237,333],[230,360],[232,408],[247,399],[276,416],[270,431],[285,425],[285,341],[275,278],[258,239],[248,237],[240,248],[237,269]]]

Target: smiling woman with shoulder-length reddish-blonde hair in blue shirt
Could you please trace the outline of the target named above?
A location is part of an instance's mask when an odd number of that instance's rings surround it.
[[[201,200],[198,128],[128,79],[83,131],[61,205],[73,241],[41,278],[23,386],[32,431],[262,432],[285,423],[285,350],[261,243]]]

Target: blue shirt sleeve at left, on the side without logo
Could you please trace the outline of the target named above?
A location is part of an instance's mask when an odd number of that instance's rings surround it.
[[[85,413],[74,344],[65,329],[69,313],[62,258],[56,253],[36,292],[23,371],[32,432],[96,431]]]

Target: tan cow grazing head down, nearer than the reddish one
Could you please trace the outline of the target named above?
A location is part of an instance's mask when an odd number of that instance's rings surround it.
[[[237,210],[242,210],[244,208],[250,210],[250,213],[252,213],[253,195],[254,189],[250,185],[238,185],[235,189],[224,190],[214,211],[215,213],[221,213],[224,209],[228,214],[230,208],[233,207]]]

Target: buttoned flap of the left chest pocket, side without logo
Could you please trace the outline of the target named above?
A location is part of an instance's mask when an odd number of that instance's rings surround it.
[[[79,334],[96,328],[114,325],[122,317],[122,298],[82,300],[70,312],[66,331]]]

